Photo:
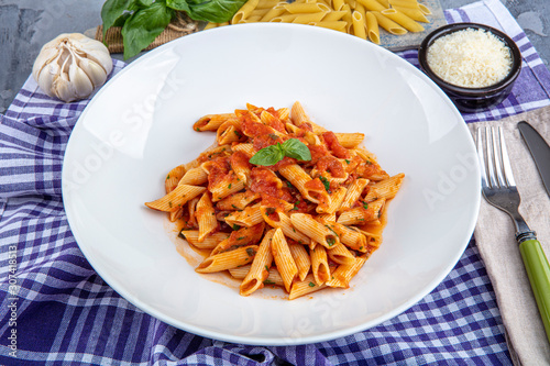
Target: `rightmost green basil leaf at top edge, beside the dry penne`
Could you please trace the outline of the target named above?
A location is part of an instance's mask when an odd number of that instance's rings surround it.
[[[189,10],[185,9],[184,2]],[[185,10],[194,20],[212,23],[229,22],[246,0],[167,0],[168,7]]]

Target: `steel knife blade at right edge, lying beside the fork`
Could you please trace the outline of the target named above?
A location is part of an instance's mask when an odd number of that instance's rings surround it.
[[[531,153],[535,165],[537,165],[547,193],[550,196],[550,146],[538,131],[526,121],[519,122],[517,127]]]

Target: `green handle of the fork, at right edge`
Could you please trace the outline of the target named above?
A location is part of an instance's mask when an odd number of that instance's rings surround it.
[[[520,243],[519,252],[544,324],[547,339],[550,342],[550,266],[548,259],[537,240]]]

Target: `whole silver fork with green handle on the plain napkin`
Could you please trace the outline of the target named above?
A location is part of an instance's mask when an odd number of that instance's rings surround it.
[[[518,211],[520,197],[514,180],[503,130],[501,126],[496,131],[491,126],[484,130],[485,133],[479,127],[476,136],[483,196],[488,203],[508,213],[514,220],[519,252],[544,324],[547,339],[550,341],[550,266],[536,233],[529,229]]]

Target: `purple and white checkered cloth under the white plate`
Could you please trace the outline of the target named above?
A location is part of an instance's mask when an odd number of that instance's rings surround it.
[[[446,16],[449,22],[504,30],[524,56],[512,96],[486,112],[464,114],[468,122],[550,104],[550,73],[498,0],[449,10]],[[417,65],[416,51],[399,55]],[[113,74],[123,66],[116,60]],[[447,278],[409,310],[330,342],[286,347],[231,344],[144,313],[91,268],[63,208],[63,155],[88,101],[61,103],[29,78],[0,115],[1,365],[512,364],[495,293],[474,240]]]

